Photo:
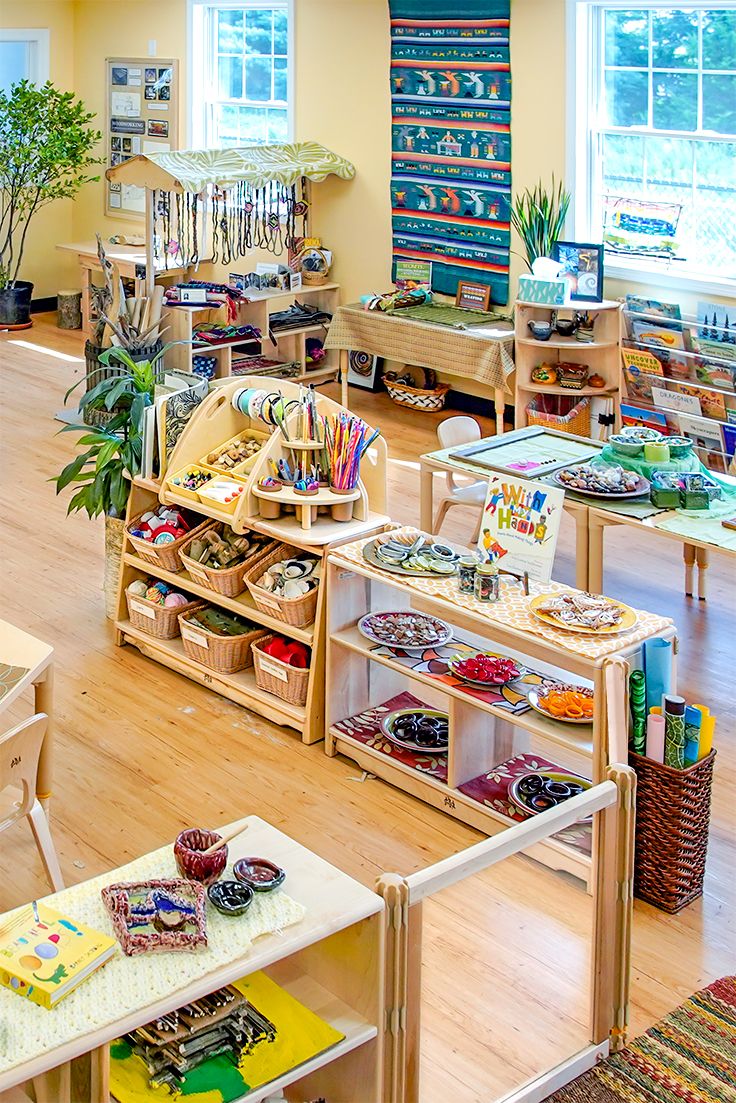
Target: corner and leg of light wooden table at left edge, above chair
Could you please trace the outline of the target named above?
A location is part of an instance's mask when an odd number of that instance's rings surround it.
[[[0,672],[0,711],[9,708],[17,697],[33,686],[34,708],[49,717],[46,735],[41,745],[35,795],[46,816],[53,778],[53,719],[54,719],[54,649],[43,640],[21,631],[14,624],[0,620],[0,666],[25,667],[20,677],[8,677]],[[4,677],[4,681],[2,679]]]

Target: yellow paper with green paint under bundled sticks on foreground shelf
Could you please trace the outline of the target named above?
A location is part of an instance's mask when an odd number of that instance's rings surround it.
[[[244,1053],[237,1065],[224,1056],[209,1058],[185,1073],[181,1084],[182,1103],[232,1103],[254,1088],[260,1088],[291,1069],[342,1041],[344,1035],[295,999],[265,973],[254,973],[233,987],[273,1022],[274,1041],[257,1042]],[[171,1103],[172,1094],[163,1086],[149,1085],[143,1061],[132,1053],[125,1039],[110,1047],[110,1092],[119,1103]]]

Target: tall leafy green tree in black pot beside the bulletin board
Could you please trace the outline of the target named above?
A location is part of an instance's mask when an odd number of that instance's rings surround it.
[[[54,200],[73,199],[100,158],[95,118],[71,92],[21,81],[0,90],[0,324],[29,325],[33,285],[19,279],[29,226]]]

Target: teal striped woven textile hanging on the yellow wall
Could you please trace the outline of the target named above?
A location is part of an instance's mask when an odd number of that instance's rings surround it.
[[[394,260],[509,295],[510,0],[390,0]]]

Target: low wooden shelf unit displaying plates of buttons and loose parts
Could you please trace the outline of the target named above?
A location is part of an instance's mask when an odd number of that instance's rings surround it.
[[[480,650],[511,655],[559,681],[591,686],[596,700],[593,725],[557,722],[531,709],[512,715],[460,687],[412,670],[392,655],[376,654],[355,625],[365,612],[385,609],[430,613],[452,625],[455,639]],[[661,634],[672,639],[674,629]],[[614,726],[621,726],[614,717],[627,714],[626,682],[621,679],[621,699],[611,703],[607,692],[607,667],[611,660],[621,661],[627,671],[629,666],[640,666],[641,649],[641,643],[622,644],[619,651],[604,660],[564,652],[542,636],[489,622],[481,604],[468,609],[444,597],[419,595],[399,576],[381,572],[367,563],[358,565],[344,556],[341,548],[335,548],[327,559],[326,751],[330,756],[345,754],[363,770],[493,835],[514,821],[467,795],[459,786],[524,752],[550,757],[561,767],[591,778],[594,783],[604,780],[609,762],[616,760],[616,756],[619,760],[621,754],[626,758],[628,738],[626,730],[612,730]],[[447,780],[401,762],[335,727],[405,690],[412,692],[424,705],[449,715]],[[612,751],[609,751],[609,743]],[[550,838],[529,854],[589,885],[591,860],[582,850]]]

